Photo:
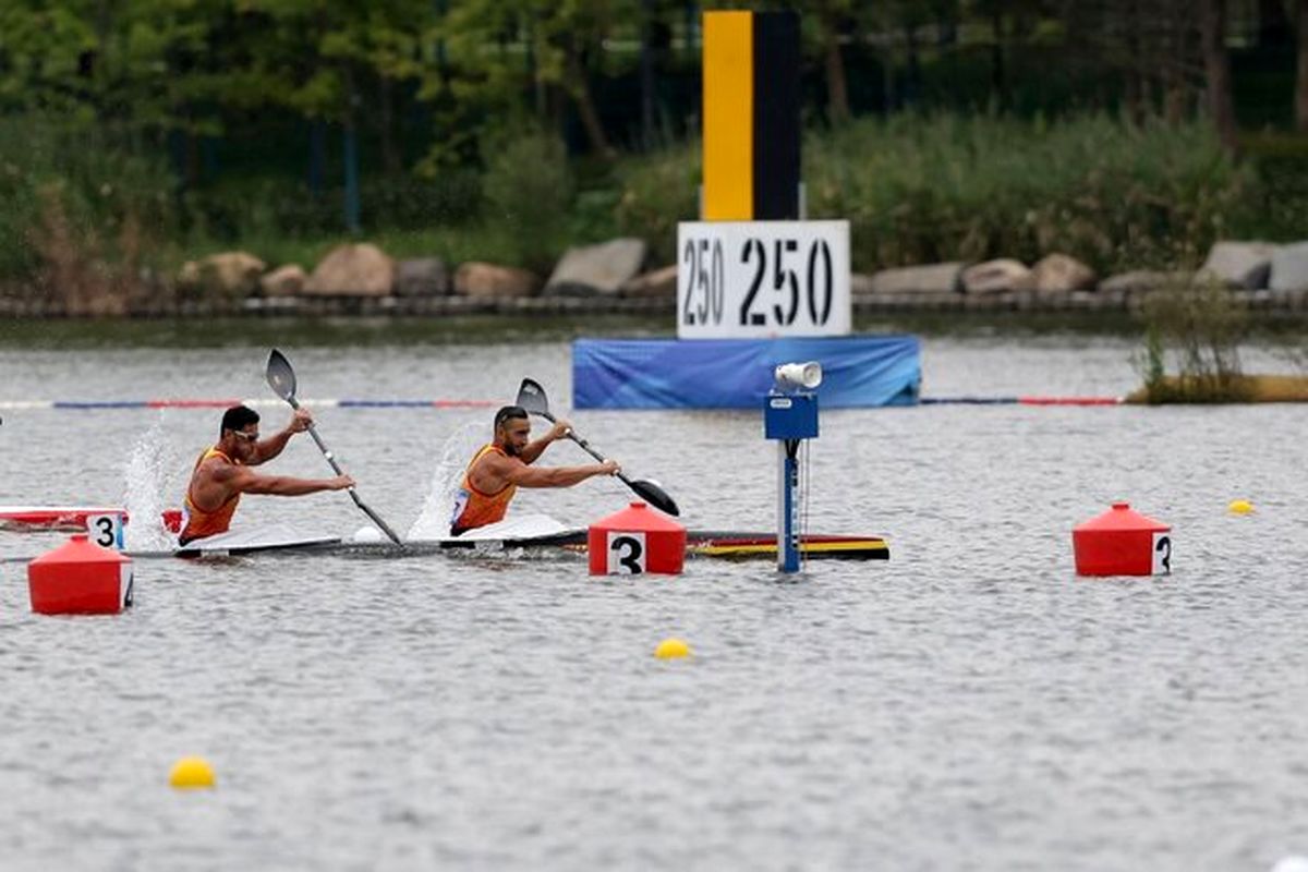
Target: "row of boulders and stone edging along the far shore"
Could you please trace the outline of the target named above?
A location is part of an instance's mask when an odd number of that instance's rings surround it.
[[[640,239],[570,248],[542,280],[521,268],[439,258],[392,260],[369,244],[332,250],[307,273],[268,271],[247,252],[187,263],[175,278],[139,286],[3,293],[0,316],[456,316],[671,315],[678,267],[645,271]],[[1249,311],[1308,312],[1308,242],[1219,242],[1194,272],[1133,271],[1100,280],[1075,259],[1050,254],[1033,267],[1001,258],[883,269],[850,277],[854,315],[910,312],[1133,311],[1169,288],[1219,285]]]

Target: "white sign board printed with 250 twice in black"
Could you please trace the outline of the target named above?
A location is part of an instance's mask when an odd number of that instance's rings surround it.
[[[676,251],[679,339],[850,332],[848,221],[684,221]]]

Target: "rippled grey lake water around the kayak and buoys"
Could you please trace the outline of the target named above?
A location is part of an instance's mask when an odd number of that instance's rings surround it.
[[[0,346],[0,400],[506,403],[523,377],[691,527],[768,529],[757,414],[570,412],[566,341]],[[1122,395],[1131,340],[923,340],[923,395]],[[1284,371],[1249,349],[1250,371]],[[177,505],[215,411],[5,411],[0,503]],[[421,532],[487,409],[323,409],[392,527]],[[264,429],[286,418],[268,409]],[[1308,407],[832,411],[816,532],[888,562],[577,557],[139,561],[119,617],[30,613],[0,563],[5,869],[1267,869],[1308,854]],[[572,444],[551,464],[582,463]],[[306,438],[268,469],[327,473]],[[566,523],[615,480],[525,492]],[[1231,499],[1256,512],[1235,516]],[[1078,579],[1114,499],[1175,531],[1175,573]],[[241,524],[349,533],[343,494],[249,497]],[[140,535],[135,533],[133,535]],[[61,535],[0,532],[0,556]],[[684,662],[654,646],[681,637]],[[178,794],[182,756],[217,790]]]

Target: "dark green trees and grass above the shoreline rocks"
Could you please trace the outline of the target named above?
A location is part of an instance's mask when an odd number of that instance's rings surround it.
[[[670,260],[696,212],[700,5],[9,0],[0,281],[120,284],[237,246],[307,265],[356,225],[396,255],[544,269],[637,234]],[[853,221],[859,269],[1165,267],[1299,233],[1295,56],[1282,4],[1256,5],[1224,25],[1236,109],[1282,132],[1237,156],[1185,0],[713,4],[802,8],[810,214]]]

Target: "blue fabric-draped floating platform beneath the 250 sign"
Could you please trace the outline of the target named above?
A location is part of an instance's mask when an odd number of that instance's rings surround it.
[[[824,409],[914,405],[916,336],[578,339],[573,408],[757,409],[778,363],[818,361]]]

